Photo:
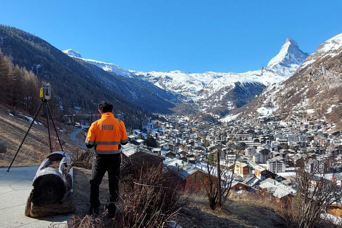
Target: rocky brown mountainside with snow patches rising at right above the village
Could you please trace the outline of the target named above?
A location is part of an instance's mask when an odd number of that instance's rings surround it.
[[[288,80],[267,87],[232,115],[237,113],[315,117],[342,129],[342,34],[323,42]]]

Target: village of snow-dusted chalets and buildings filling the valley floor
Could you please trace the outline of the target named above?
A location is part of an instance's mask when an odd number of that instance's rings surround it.
[[[216,156],[217,151],[223,164],[233,165],[226,168],[232,173],[232,189],[240,193],[258,191],[286,204],[296,195],[296,164],[307,156],[312,158],[309,172],[315,162],[333,156],[337,166],[330,171],[337,174],[332,181],[342,187],[342,133],[318,116],[293,116],[287,122],[275,115],[253,116],[222,124],[198,123],[182,116],[163,117],[166,122],[152,120],[144,124],[143,131],[134,129],[128,135],[131,145],[123,146],[123,153],[130,156],[141,150],[162,156],[164,165],[174,170],[191,191],[206,183],[205,161]],[[200,129],[203,125],[207,127]],[[139,135],[152,136],[157,147],[144,145]],[[329,149],[326,145],[330,145]],[[329,206],[327,212],[341,216],[341,202]]]

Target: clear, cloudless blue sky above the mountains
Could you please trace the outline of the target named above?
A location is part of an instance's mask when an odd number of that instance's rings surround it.
[[[126,69],[245,72],[287,37],[313,53],[342,32],[341,10],[341,0],[7,0],[0,23]]]

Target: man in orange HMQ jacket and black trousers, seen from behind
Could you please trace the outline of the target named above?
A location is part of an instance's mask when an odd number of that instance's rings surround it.
[[[90,213],[98,213],[100,208],[100,184],[106,171],[109,182],[108,215],[113,216],[116,211],[115,203],[118,200],[121,145],[128,142],[124,122],[114,118],[113,105],[109,102],[101,102],[98,105],[101,119],[91,124],[85,145],[88,148],[95,147],[95,156],[91,169],[90,180]]]

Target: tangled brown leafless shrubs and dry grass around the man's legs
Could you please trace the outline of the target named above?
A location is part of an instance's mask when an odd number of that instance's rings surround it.
[[[100,216],[86,214],[91,173],[90,170],[76,168],[74,194],[76,213],[79,215],[73,217],[69,227],[167,227],[186,201],[181,200],[182,186],[178,179],[173,173],[165,172],[161,163],[153,160],[158,160],[158,157],[151,156],[147,155],[144,160],[143,154],[137,153],[136,157],[132,156],[123,162],[122,173],[126,175],[120,181],[120,199],[115,220],[107,219],[107,211],[102,209]],[[149,165],[147,160],[156,163],[151,162]],[[131,161],[134,161],[134,166],[131,166]],[[102,205],[106,205],[109,196],[107,182],[106,174],[100,186]]]

